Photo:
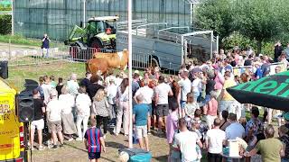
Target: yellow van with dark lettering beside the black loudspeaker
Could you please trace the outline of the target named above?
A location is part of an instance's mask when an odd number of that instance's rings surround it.
[[[0,79],[0,162],[23,161],[23,122],[18,121],[14,88]]]

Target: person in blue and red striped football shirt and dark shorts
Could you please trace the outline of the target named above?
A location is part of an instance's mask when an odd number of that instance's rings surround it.
[[[103,134],[96,127],[97,121],[95,118],[90,118],[91,127],[85,132],[84,144],[89,151],[90,162],[98,162],[100,158],[101,148],[106,153],[106,144],[103,139]]]

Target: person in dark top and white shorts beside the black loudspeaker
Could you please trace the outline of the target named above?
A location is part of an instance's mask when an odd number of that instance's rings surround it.
[[[45,105],[40,98],[40,93],[38,89],[33,90],[33,102],[34,102],[34,119],[31,122],[30,126],[30,146],[33,149],[33,142],[34,142],[34,132],[37,129],[38,134],[38,144],[39,150],[43,150],[44,147],[42,146],[42,130],[44,129],[44,113],[45,113]]]

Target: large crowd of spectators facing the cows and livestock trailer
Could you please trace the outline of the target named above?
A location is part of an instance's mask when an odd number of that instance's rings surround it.
[[[277,54],[276,61],[282,64],[275,66],[275,73],[287,67],[286,58],[285,51]],[[183,65],[178,76],[163,75],[159,67],[148,67],[143,75],[135,70],[132,118],[140,148],[150,150],[148,135],[154,132],[165,135],[170,145],[168,161],[200,161],[206,155],[208,161],[219,162],[226,157],[224,149],[229,141],[237,139],[247,143],[247,147],[240,148],[241,156],[253,161],[289,161],[289,112],[282,115],[277,111],[273,115],[273,109],[265,108],[261,121],[259,113],[263,108],[238,103],[226,91],[230,86],[270,75],[273,62],[266,55],[256,56],[250,49],[236,48],[226,54],[220,49],[210,60]],[[249,70],[240,70],[236,75],[234,69],[244,66]],[[85,140],[89,159],[99,158],[101,148],[105,150],[108,128],[113,127],[116,136],[121,130],[124,136],[129,133],[128,85],[126,74],[115,75],[114,71],[107,76],[88,72],[80,82],[72,74],[65,84],[62,78],[56,83],[54,76],[41,76],[39,87],[33,90],[32,148],[36,129],[39,149],[44,148],[42,130],[47,125],[51,134],[49,148],[63,147],[65,134],[69,141]],[[251,114],[249,121],[246,111]],[[270,124],[273,117],[278,121],[278,139]]]

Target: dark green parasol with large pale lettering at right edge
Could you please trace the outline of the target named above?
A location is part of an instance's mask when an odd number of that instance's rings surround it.
[[[289,111],[289,71],[227,88],[239,103]]]

